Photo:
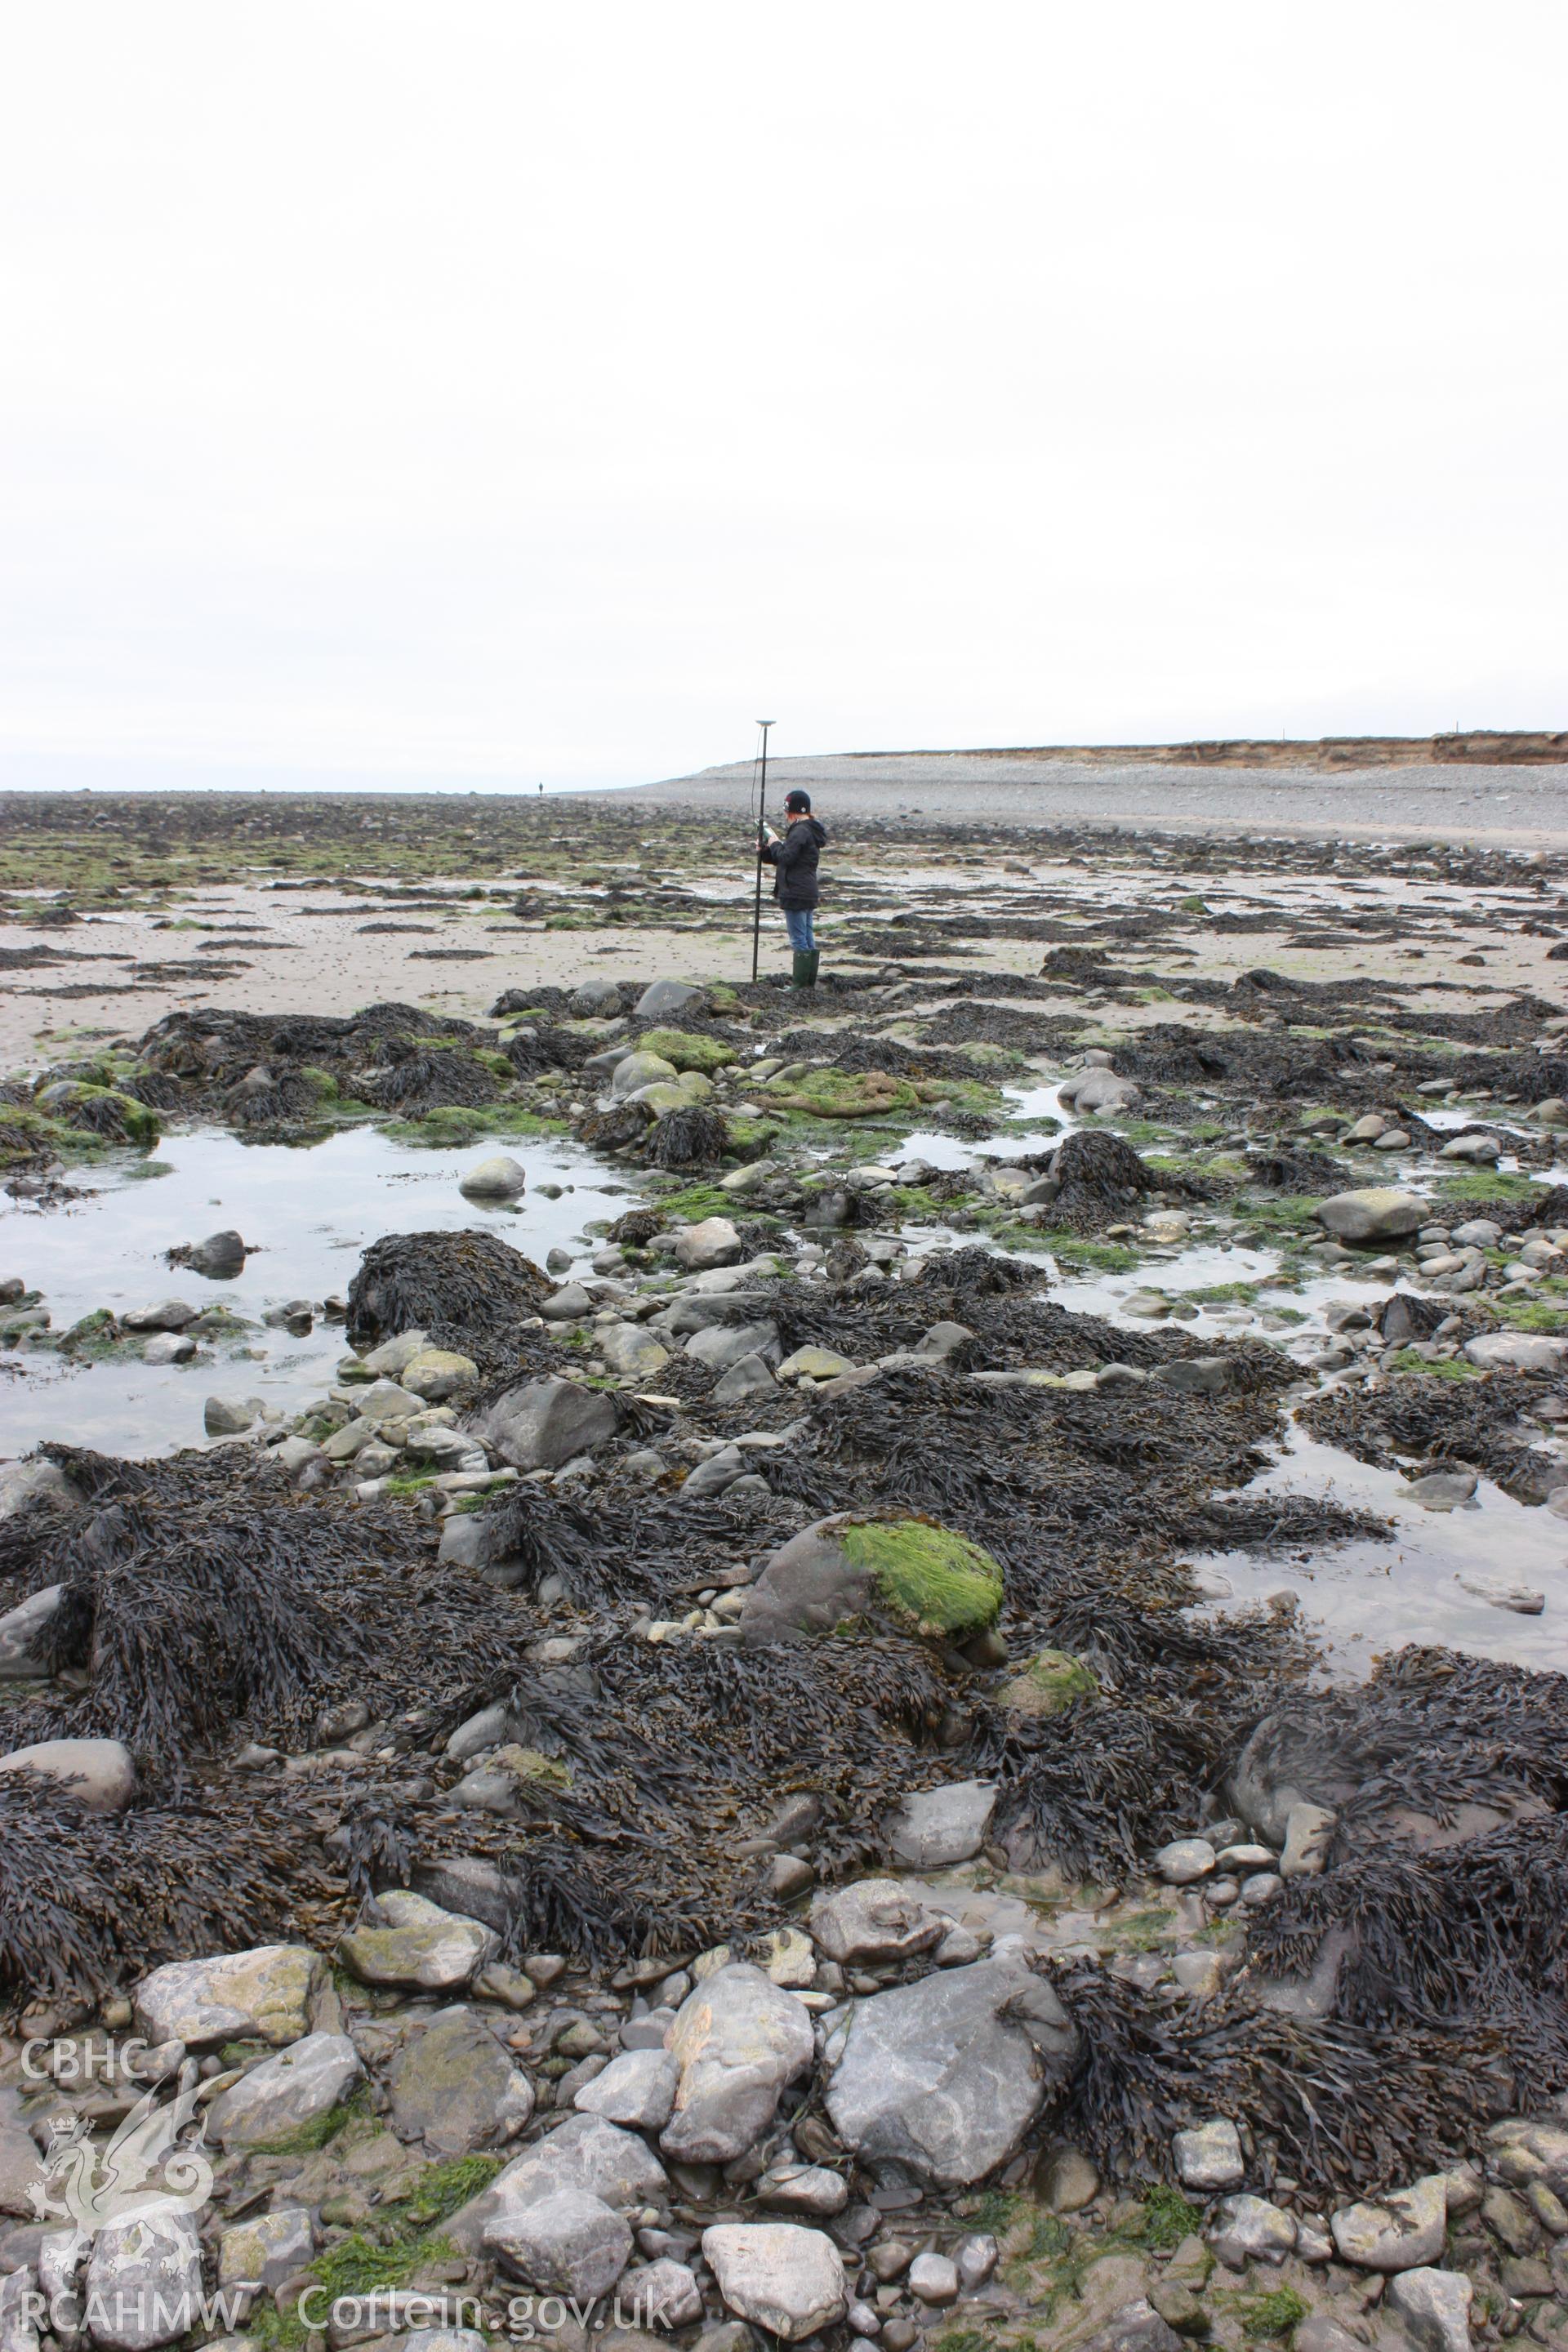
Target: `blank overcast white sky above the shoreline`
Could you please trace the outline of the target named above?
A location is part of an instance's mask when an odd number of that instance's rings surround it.
[[[1561,0],[9,0],[0,779],[1568,724]]]

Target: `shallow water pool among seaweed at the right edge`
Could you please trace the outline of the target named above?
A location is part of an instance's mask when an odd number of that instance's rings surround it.
[[[1307,1557],[1204,1552],[1194,1557],[1204,1581],[1218,1573],[1234,1595],[1215,1599],[1213,1609],[1295,1592],[1302,1618],[1328,1651],[1331,1672],[1342,1679],[1359,1682],[1382,1651],[1408,1642],[1568,1670],[1568,1522],[1556,1512],[1516,1503],[1490,1479],[1481,1479],[1472,1508],[1422,1510],[1396,1470],[1359,1463],[1295,1425],[1284,1458],[1244,1491],[1248,1498],[1309,1494],[1347,1510],[1373,1510],[1394,1522],[1394,1534]],[[1465,1592],[1460,1576],[1530,1585],[1544,1592],[1547,1609],[1542,1616],[1495,1609]]]

